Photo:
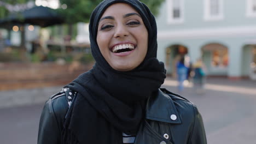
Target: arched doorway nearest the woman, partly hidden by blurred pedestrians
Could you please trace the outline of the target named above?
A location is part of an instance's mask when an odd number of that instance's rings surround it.
[[[167,74],[176,76],[176,63],[181,56],[188,54],[188,48],[184,45],[171,45],[166,48],[165,67]]]

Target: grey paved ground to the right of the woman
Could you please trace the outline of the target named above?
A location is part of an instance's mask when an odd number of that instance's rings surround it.
[[[166,79],[164,87],[179,93],[178,83]],[[256,143],[256,81],[208,79],[203,94],[187,85],[181,94],[199,108],[210,144]]]

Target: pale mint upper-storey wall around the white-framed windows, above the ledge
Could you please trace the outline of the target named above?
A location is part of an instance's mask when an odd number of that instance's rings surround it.
[[[245,0],[224,0],[224,19],[220,21],[205,21],[203,19],[203,0],[184,0],[184,23],[167,23],[167,4],[161,5],[160,13],[156,19],[159,31],[214,28],[230,26],[254,26],[255,17],[246,17]]]

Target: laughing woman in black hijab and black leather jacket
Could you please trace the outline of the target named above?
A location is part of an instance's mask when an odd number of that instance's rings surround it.
[[[46,102],[38,143],[206,143],[196,107],[159,89],[165,69],[146,5],[103,1],[89,30],[96,64]]]

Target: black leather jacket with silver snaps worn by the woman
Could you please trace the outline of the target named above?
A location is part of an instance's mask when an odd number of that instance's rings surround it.
[[[53,95],[40,118],[38,144],[61,143],[61,130],[68,110],[65,93]],[[135,144],[205,144],[202,117],[196,106],[179,95],[159,89],[147,103],[146,119]]]

